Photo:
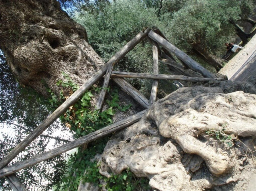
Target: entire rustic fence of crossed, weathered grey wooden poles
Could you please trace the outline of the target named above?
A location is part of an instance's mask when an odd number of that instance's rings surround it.
[[[156,31],[156,32],[154,32]],[[149,38],[152,43],[153,50],[153,74],[144,74],[144,73],[128,73],[128,72],[117,72],[112,71],[113,67],[120,59],[122,59],[126,53],[131,51],[139,42],[141,42],[145,37]],[[164,52],[169,52],[175,54],[178,59],[182,61],[185,65],[181,66],[178,63],[173,62],[170,59],[159,58],[159,46],[162,46]],[[169,57],[168,57],[169,58]],[[187,74],[184,75],[164,75],[158,74],[158,62],[162,61],[166,64],[170,64],[175,69]],[[191,77],[191,74],[196,74],[201,77]],[[133,99],[135,99],[142,107],[146,110],[137,113],[131,117],[128,117],[125,120],[121,120],[112,125],[108,125],[100,130],[90,133],[84,137],[78,138],[72,142],[66,143],[60,147],[47,151],[45,153],[35,155],[29,159],[17,162],[12,166],[7,166],[13,158],[15,158],[19,153],[21,153],[26,146],[28,146],[34,139],[42,134],[44,130],[47,129],[55,120],[57,120],[60,115],[62,115],[70,106],[72,106],[78,99],[87,91],[89,88],[95,84],[102,76],[105,75],[103,89],[100,93],[99,100],[97,102],[97,109],[101,110],[102,104],[104,102],[104,97],[106,94],[106,88],[108,87],[110,77],[115,81],[125,92],[130,94]],[[127,78],[148,78],[154,79],[152,84],[152,91],[150,99],[146,99],[141,92],[132,87],[124,77]],[[216,77],[211,72],[207,71],[204,67],[198,64],[196,61],[191,59],[187,54],[173,46],[167,39],[162,35],[161,32],[157,29],[146,28],[144,31],[138,33],[131,41],[129,41],[123,48],[118,51],[99,71],[97,71],[91,78],[86,81],[76,92],[74,92],[60,107],[57,108],[41,125],[39,125],[33,132],[31,132],[24,140],[21,141],[13,150],[8,153],[3,160],[0,161],[0,177],[4,177],[10,183],[10,186],[15,191],[26,191],[26,188],[22,186],[19,179],[16,177],[15,172],[33,166],[37,163],[40,163],[44,160],[53,158],[61,153],[65,153],[68,150],[79,147],[85,143],[89,143],[93,140],[101,138],[105,135],[109,135],[112,132],[121,130],[141,119],[141,117],[147,112],[147,109],[155,102],[157,97],[157,86],[159,79],[171,79],[171,80],[184,80],[184,81],[210,81],[210,80],[225,80],[225,77]]]

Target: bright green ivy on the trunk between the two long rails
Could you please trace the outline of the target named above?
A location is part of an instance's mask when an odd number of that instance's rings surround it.
[[[67,74],[63,73],[63,76],[65,77],[65,80],[57,82],[57,86],[63,89],[59,96],[55,95],[50,89],[48,90],[50,94],[49,103],[54,109],[78,89],[78,85],[73,83]],[[64,115],[60,116],[60,121],[71,131],[76,133],[76,138],[88,135],[91,132],[112,124],[112,116],[115,114],[116,110],[125,112],[131,107],[131,104],[125,106],[120,106],[118,104],[118,90],[114,89],[111,92],[112,99],[106,101],[109,106],[108,109],[102,112],[95,110],[91,105],[91,101],[94,96],[93,94],[100,90],[101,88],[93,88],[90,91],[87,91],[81,99],[68,108]],[[109,88],[107,90],[110,91]]]

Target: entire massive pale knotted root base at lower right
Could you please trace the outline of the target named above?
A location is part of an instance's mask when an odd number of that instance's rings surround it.
[[[161,191],[198,191],[244,180],[247,172],[255,172],[241,163],[247,148],[239,148],[239,141],[227,147],[206,132],[255,137],[255,103],[256,95],[224,94],[219,87],[178,89],[155,102],[139,122],[113,135],[102,153],[101,172],[129,168]]]

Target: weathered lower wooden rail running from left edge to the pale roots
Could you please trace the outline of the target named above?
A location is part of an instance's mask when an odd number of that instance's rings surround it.
[[[73,148],[79,147],[83,145],[84,143],[89,143],[93,140],[99,139],[104,137],[105,135],[109,135],[112,132],[121,130],[125,127],[128,127],[129,125],[132,125],[133,123],[137,122],[141,119],[141,117],[147,112],[148,110],[143,110],[136,115],[132,115],[131,117],[126,118],[125,120],[121,120],[119,122],[113,123],[112,125],[108,125],[107,127],[104,127],[100,130],[97,130],[95,132],[90,133],[89,135],[86,135],[84,137],[78,138],[77,140],[74,140],[70,143],[67,143],[65,145],[62,145],[60,147],[57,147],[55,149],[49,150],[45,153],[33,156],[29,159],[20,161],[18,163],[13,164],[12,166],[5,167],[0,170],[0,178],[4,176],[9,176],[10,174],[13,174],[23,168],[27,168],[29,166],[33,166],[37,163],[40,163],[44,160],[48,160],[50,158],[53,158],[57,155],[60,155],[61,153],[65,153],[68,150],[71,150]]]

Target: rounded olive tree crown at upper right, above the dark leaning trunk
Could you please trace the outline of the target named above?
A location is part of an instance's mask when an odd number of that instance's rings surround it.
[[[234,37],[235,28],[229,21],[240,19],[240,15],[238,0],[200,0],[188,4],[172,15],[172,41],[187,51],[200,45],[216,54],[225,41]]]

